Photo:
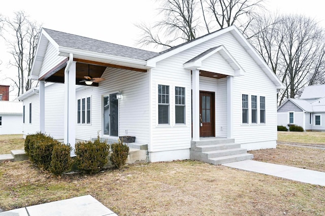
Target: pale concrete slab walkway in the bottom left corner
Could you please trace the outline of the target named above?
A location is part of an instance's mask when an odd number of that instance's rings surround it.
[[[91,195],[0,212],[0,216],[117,216]]]

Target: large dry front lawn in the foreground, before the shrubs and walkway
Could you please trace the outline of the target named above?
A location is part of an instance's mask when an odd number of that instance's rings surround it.
[[[0,164],[0,208],[90,194],[119,215],[323,215],[325,187],[196,161],[129,165],[58,179]]]

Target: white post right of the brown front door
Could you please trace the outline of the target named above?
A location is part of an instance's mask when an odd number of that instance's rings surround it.
[[[234,82],[234,77],[228,76],[227,77],[227,138],[233,138],[233,82]]]

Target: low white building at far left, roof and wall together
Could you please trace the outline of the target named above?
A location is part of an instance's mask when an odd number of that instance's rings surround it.
[[[0,135],[21,134],[22,118],[22,102],[0,101]]]

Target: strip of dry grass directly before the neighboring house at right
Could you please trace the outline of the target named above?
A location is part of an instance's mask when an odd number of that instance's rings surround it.
[[[296,142],[325,146],[325,132],[278,131],[280,142]]]

